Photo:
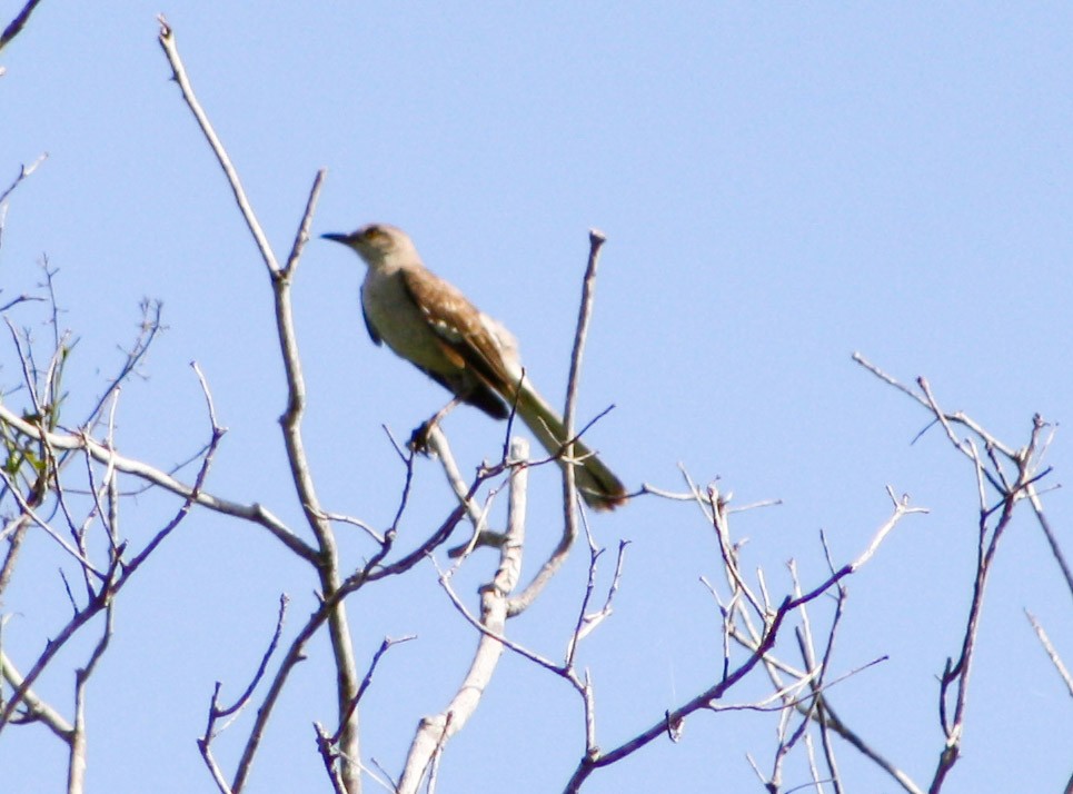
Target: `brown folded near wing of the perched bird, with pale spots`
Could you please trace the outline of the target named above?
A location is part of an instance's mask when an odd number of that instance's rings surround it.
[[[510,341],[513,337],[500,340],[466,296],[425,268],[405,270],[403,282],[444,353],[457,366],[473,370],[500,395],[511,394],[514,378],[510,370],[514,367],[505,360],[504,341]],[[495,327],[500,326],[496,324]],[[511,349],[507,357],[514,355]]]

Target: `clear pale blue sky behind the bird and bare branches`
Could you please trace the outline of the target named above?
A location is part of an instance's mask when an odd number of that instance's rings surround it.
[[[677,488],[680,461],[699,482],[718,477],[739,504],[782,499],[735,518],[751,542],[747,567],[763,565],[776,592],[791,557],[805,582],[824,576],[821,528],[837,559],[855,557],[888,514],[886,485],[931,508],[850,582],[836,668],[891,658],[835,693],[845,717],[925,782],[941,742],[935,676],[956,653],[967,604],[975,483],[940,433],[911,446],[923,411],[850,356],[860,350],[905,381],[927,376],[944,405],[1014,446],[1034,413],[1066,421],[1073,12],[44,0],[0,54],[0,183],[49,152],[10,200],[3,295],[32,288],[42,255],[59,269],[63,321],[80,338],[74,415],[118,365],[138,301],[161,299],[168,331],[148,377],[123,393],[120,447],[168,467],[199,446],[203,404],[187,367],[197,360],[229,428],[210,489],[264,502],[296,526],[270,292],[169,82],[161,10],[280,256],[327,168],[315,231],[370,220],[407,229],[430,268],[508,322],[556,404],[587,230],[603,229],[580,409],[616,408],[590,439],[632,486]],[[307,445],[326,504],[386,526],[401,470],[380,426],[405,437],[443,394],[369,343],[361,277],[338,247],[307,248],[294,288]],[[9,351],[2,366],[7,386],[17,378]],[[503,428],[460,410],[447,431],[471,470],[497,454]],[[1061,428],[1049,459],[1050,482],[1064,482]],[[450,498],[431,461],[419,464],[416,487],[413,537]],[[557,537],[557,487],[548,468],[533,484],[530,568]],[[1045,498],[1069,547],[1069,496]],[[169,504],[146,502],[149,515],[131,508],[136,539]],[[698,577],[717,575],[718,553],[684,505],[638,500],[594,527],[610,547],[633,542],[616,614],[585,648],[610,746],[711,683],[718,615]],[[369,548],[344,535],[357,564]],[[2,606],[12,653],[29,655],[62,619],[59,563],[38,544]],[[1069,662],[1070,594],[1027,513],[1000,555],[964,757],[945,791],[1054,791],[1071,772],[1069,698],[1022,614],[1041,618]],[[471,597],[488,565],[470,560],[459,592]],[[584,575],[576,555],[513,636],[559,653]],[[91,788],[212,791],[195,746],[212,683],[237,692],[279,593],[290,594],[296,625],[314,587],[272,538],[191,516],[121,602],[90,697]],[[362,593],[350,613],[361,659],[385,634],[420,637],[385,661],[365,712],[364,751],[396,772],[416,721],[460,681],[474,638],[431,566]],[[324,785],[310,724],[330,718],[331,674],[326,647],[314,651],[266,740],[256,791]],[[69,684],[57,674],[42,688],[64,704]],[[682,743],[657,743],[586,791],[749,791],[744,755],[768,757],[773,725],[771,715],[695,715]],[[560,681],[507,657],[448,751],[441,791],[483,791],[489,780],[557,791],[580,752],[579,726]],[[225,763],[237,741],[220,740]],[[53,790],[61,760],[43,731],[6,731],[6,793],[41,791],[44,771]],[[839,760],[851,790],[895,791],[851,750]]]

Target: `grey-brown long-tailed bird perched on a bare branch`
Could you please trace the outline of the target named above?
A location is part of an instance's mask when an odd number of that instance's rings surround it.
[[[524,375],[510,331],[484,314],[454,286],[430,272],[401,229],[370,224],[349,235],[324,235],[354,249],[368,265],[361,310],[369,336],[455,395],[496,419],[511,406],[548,454],[568,440],[563,419]],[[438,418],[438,416],[437,416]],[[435,421],[435,419],[434,419]],[[582,441],[574,441],[575,482],[585,502],[610,509],[626,488]],[[559,458],[563,466],[570,465]]]

